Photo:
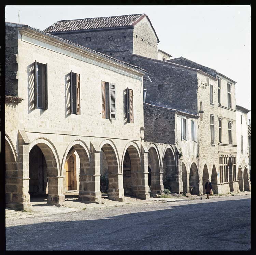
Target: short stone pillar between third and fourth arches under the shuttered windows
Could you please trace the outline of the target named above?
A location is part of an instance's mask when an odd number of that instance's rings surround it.
[[[123,188],[123,174],[109,172],[108,178],[108,198],[115,201],[125,201]]]

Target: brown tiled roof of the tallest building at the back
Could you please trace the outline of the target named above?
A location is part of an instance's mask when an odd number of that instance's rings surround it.
[[[48,28],[46,28],[44,32],[51,33],[51,32],[84,30],[84,29],[93,29],[93,28],[113,28],[113,27],[133,26],[145,16],[146,14],[130,14],[130,15],[112,16],[112,17],[60,20],[55,22],[53,25],[49,26]]]

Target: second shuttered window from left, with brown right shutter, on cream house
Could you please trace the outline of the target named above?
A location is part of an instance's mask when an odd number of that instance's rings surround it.
[[[80,74],[70,72],[71,113],[80,115]]]

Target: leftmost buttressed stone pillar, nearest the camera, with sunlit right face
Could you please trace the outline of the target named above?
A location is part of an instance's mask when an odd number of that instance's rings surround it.
[[[19,142],[22,141],[19,139]],[[19,146],[17,171],[11,176],[6,175],[6,207],[16,210],[31,208],[29,179],[29,148],[28,144],[23,144]]]

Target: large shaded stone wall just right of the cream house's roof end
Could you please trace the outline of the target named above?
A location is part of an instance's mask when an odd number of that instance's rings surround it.
[[[132,64],[150,73],[144,77],[146,103],[197,114],[197,72],[167,61],[132,55]]]

